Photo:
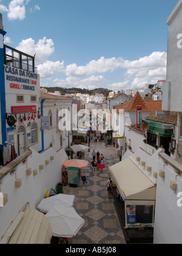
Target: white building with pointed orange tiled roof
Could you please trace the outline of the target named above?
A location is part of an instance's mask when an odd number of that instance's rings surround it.
[[[115,108],[118,113],[118,120],[123,118],[123,122],[121,122],[118,131],[116,131],[119,134],[118,137],[124,136],[124,139],[120,138],[116,141],[119,143],[119,148],[121,147],[123,154],[127,149],[136,152],[138,148],[144,146],[145,132],[141,129],[141,121],[147,116],[153,115],[157,110],[161,110],[161,105],[161,101],[143,100],[140,93],[137,92],[132,101]],[[124,113],[119,118],[121,110]],[[148,152],[154,152],[154,148],[151,146],[147,150]]]

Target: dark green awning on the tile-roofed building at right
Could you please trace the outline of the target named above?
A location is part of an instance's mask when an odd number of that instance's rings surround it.
[[[173,129],[164,129],[164,127],[172,127],[173,125],[161,123],[157,121],[144,120],[147,123],[146,131],[159,135],[161,137],[171,137],[173,134]]]

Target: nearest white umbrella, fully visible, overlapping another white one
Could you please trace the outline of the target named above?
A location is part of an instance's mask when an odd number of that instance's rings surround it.
[[[55,206],[45,215],[50,221],[52,235],[71,238],[81,229],[84,219],[73,207]]]

